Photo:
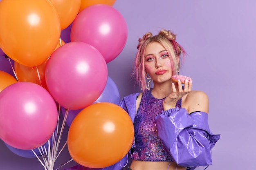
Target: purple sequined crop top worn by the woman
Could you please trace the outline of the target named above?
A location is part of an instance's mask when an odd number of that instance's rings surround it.
[[[156,99],[151,90],[142,95],[134,120],[135,144],[131,149],[131,159],[139,161],[173,161],[167,157],[162,141],[157,135],[156,115],[163,110],[163,99]],[[181,99],[176,107],[181,108]]]

